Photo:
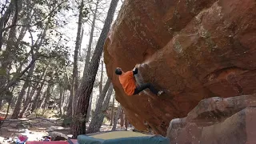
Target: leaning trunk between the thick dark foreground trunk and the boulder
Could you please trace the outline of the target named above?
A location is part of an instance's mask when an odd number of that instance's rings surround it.
[[[102,126],[102,122],[105,118],[106,110],[109,107],[112,92],[113,92],[113,85],[110,84],[110,88],[106,94],[105,101],[102,104],[102,109],[99,111],[95,110],[94,117],[92,118],[92,120],[90,122],[90,126],[87,130],[87,133],[95,133],[100,130],[100,128]],[[96,107],[96,109],[97,109],[97,107]]]

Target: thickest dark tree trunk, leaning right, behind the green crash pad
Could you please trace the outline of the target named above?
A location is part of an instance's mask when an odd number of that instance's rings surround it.
[[[79,134],[86,134],[86,114],[88,110],[88,106],[90,103],[90,94],[93,90],[95,77],[98,71],[99,60],[102,56],[104,42],[106,40],[106,36],[110,30],[111,23],[114,18],[114,12],[118,5],[118,0],[112,0],[110,3],[110,9],[108,10],[108,14],[106,16],[106,21],[104,23],[102,33],[98,38],[98,42],[96,48],[94,50],[93,58],[90,62],[90,66],[88,69],[88,73],[86,74],[86,78],[82,81],[81,90],[78,91],[78,107],[75,110],[74,117],[74,125],[72,127],[73,137],[77,138]]]

